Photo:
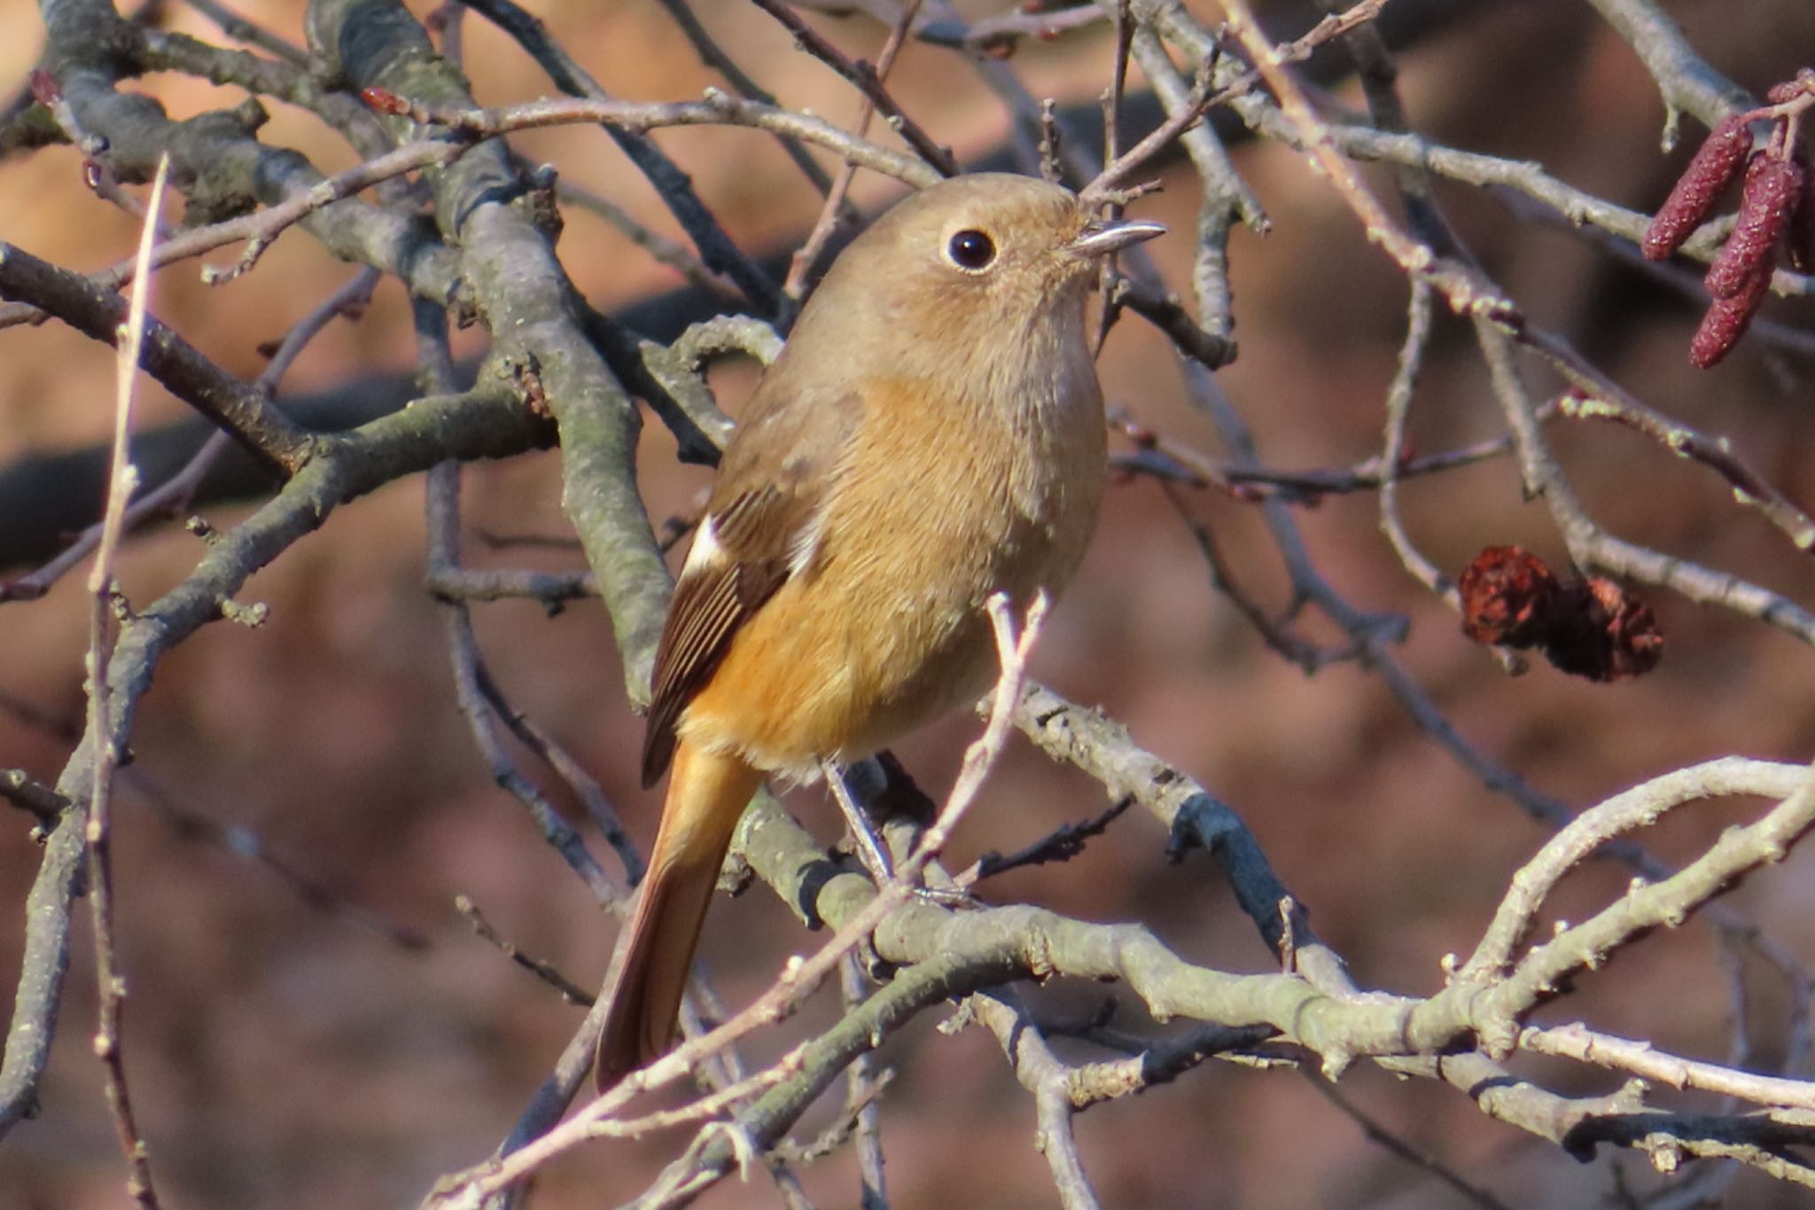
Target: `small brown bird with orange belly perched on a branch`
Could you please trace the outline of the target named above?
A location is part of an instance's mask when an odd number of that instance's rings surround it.
[[[744,408],[655,655],[643,784],[673,764],[597,1081],[673,1036],[719,865],[764,775],[811,780],[996,671],[984,602],[1084,557],[1105,424],[1084,296],[1162,234],[1024,176],[942,181],[837,258]]]

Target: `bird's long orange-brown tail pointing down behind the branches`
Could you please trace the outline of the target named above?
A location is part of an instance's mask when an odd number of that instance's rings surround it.
[[[594,1074],[606,1090],[661,1056],[673,1039],[693,947],[731,833],[762,775],[733,755],[675,749],[662,824],[637,914],[613,958],[610,1007]]]

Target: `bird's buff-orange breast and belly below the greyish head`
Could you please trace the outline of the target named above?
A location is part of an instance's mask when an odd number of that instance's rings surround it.
[[[742,626],[681,718],[688,740],[809,776],[967,700],[996,673],[984,602],[1071,579],[1096,521],[1094,374],[1009,414],[877,386],[811,564]]]

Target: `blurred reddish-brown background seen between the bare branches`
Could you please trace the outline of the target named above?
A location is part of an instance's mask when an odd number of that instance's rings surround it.
[[[412,5],[423,13],[423,5]],[[552,33],[615,94],[673,100],[719,83],[655,4],[543,0]],[[998,11],[960,2],[967,16]],[[1209,0],[1189,0],[1218,20]],[[1516,160],[1572,185],[1650,210],[1701,129],[1659,149],[1663,105],[1634,53],[1574,0],[1434,5],[1437,18],[1401,47],[1401,93],[1418,131]],[[1706,60],[1762,96],[1815,62],[1815,7],[1806,0],[1666,5]],[[301,4],[241,0],[247,16],[301,38]],[[779,100],[849,122],[857,102],[831,73],[791,51],[784,31],[741,0],[702,0],[699,16]],[[1261,5],[1278,34],[1310,18]],[[873,18],[813,15],[846,51],[875,58]],[[167,24],[216,38],[172,5]],[[0,82],[18,82],[42,44],[36,13],[0,5]],[[1339,54],[1327,49],[1321,54]],[[548,93],[512,44],[466,22],[466,62],[490,103]],[[938,140],[969,161],[998,147],[1009,116],[949,51],[909,45],[891,91]],[[1011,60],[1036,94],[1094,100],[1111,65],[1105,29],[1029,42]],[[1138,73],[1131,87],[1142,87]],[[142,82],[172,114],[238,103],[232,89],[191,78]],[[1332,87],[1358,105],[1349,83]],[[309,114],[272,105],[261,132],[323,171],[350,152]],[[793,247],[817,198],[771,140],[751,131],[661,131],[657,141],[746,249]],[[570,181],[606,194],[679,236],[653,192],[594,129],[528,134],[514,143]],[[1241,143],[1236,163],[1269,214],[1265,239],[1236,232],[1232,281],[1240,359],[1218,376],[1278,468],[1349,466],[1376,454],[1381,408],[1405,328],[1407,288],[1327,183],[1276,145]],[[1189,290],[1189,232],[1198,198],[1187,174],[1134,212],[1172,225],[1153,245],[1178,290]],[[1390,178],[1374,176],[1385,190]],[[898,192],[860,174],[855,196],[875,210]],[[1713,372],[1688,366],[1699,303],[1557,225],[1532,223],[1465,187],[1439,198],[1486,272],[1537,323],[1574,339],[1648,403],[1712,432],[1804,508],[1815,506],[1811,363],[1761,341]],[[603,221],[566,214],[563,258],[601,308],[681,285]],[[78,268],[131,252],[134,221],[82,183],[80,156],[47,149],[0,161],[0,239]],[[212,259],[227,261],[223,250]],[[281,336],[352,268],[299,230],[227,287],[203,287],[192,263],[158,278],[154,310],[229,370],[254,377],[261,341]],[[1773,301],[1770,317],[1808,327],[1808,305]],[[479,348],[477,330],[461,334]],[[408,308],[394,281],[358,323],[336,323],[285,379],[285,394],[341,388],[412,365]],[[1167,343],[1123,319],[1102,359],[1113,405],[1212,457],[1214,430],[1189,405]],[[1537,381],[1537,379],[1534,379]],[[721,401],[735,414],[750,374],[726,366]],[[111,426],[113,357],[49,323],[0,330],[0,468],[102,441]],[[1545,386],[1548,390],[1548,386]],[[142,423],[185,408],[152,383]],[[1419,452],[1492,437],[1497,408],[1467,330],[1439,323],[1419,383],[1412,435]],[[1614,532],[1730,570],[1815,602],[1815,570],[1755,512],[1735,506],[1706,470],[1608,426],[1554,424],[1552,439],[1594,513]],[[684,513],[708,473],[679,466],[659,423],[641,457],[650,513]],[[575,568],[577,551],[494,551],[479,532],[568,535],[552,452],[468,466],[466,557],[477,566]],[[1189,493],[1243,584],[1285,604],[1280,561],[1254,510]],[[211,506],[227,528],[247,506]],[[1639,590],[1666,633],[1663,666],[1641,680],[1595,686],[1539,666],[1510,678],[1465,640],[1456,615],[1403,570],[1379,537],[1372,495],[1329,497],[1301,510],[1316,566],[1356,606],[1410,619],[1399,657],[1461,731],[1541,791],[1588,805],[1646,776],[1744,753],[1806,760],[1815,753],[1815,653],[1733,613]],[[1403,488],[1408,528],[1450,571],[1479,548],[1521,542],[1563,566],[1541,504],[1519,492],[1516,466],[1418,479]],[[100,501],[94,503],[94,513]],[[134,735],[136,764],[118,807],[118,898],[131,983],[127,1056],[152,1168],[172,1206],[399,1206],[428,1183],[477,1161],[506,1134],[554,1061],[579,1010],[477,940],[456,914],[470,896],[510,940],[584,987],[597,983],[613,929],[537,836],[523,809],[486,775],[456,711],[437,606],[423,591],[423,484],[392,484],[339,510],[316,535],[249,584],[269,604],[258,629],[211,626],[158,669]],[[5,517],[0,517],[4,528]],[[122,579],[134,602],[176,584],[201,544],[180,526],[134,539]],[[25,568],[7,568],[20,573]],[[515,706],[568,744],[606,787],[641,840],[653,834],[657,791],[637,786],[641,720],[630,711],[610,628],[597,602],[544,617],[534,602],[476,608],[481,646]],[[1334,639],[1334,631],[1314,631]],[[83,711],[87,600],[71,575],[36,602],[0,606],[0,766],[54,780]],[[1548,834],[1485,789],[1419,731],[1367,669],[1338,664],[1307,677],[1267,649],[1216,595],[1191,532],[1149,481],[1116,481],[1102,530],[1051,620],[1036,675],[1122,720],[1142,746],[1200,778],[1260,836],[1280,874],[1310,907],[1356,980],[1407,994],[1441,985],[1439,960],[1472,949],[1508,876]],[[931,793],[949,786],[966,718],[931,727],[898,753]],[[561,787],[548,784],[552,795]],[[835,811],[820,791],[790,796],[828,842]],[[563,798],[564,805],[572,805]],[[1102,789],[1016,740],[987,800],[958,834],[953,865],[1013,851],[1102,807]],[[319,894],[172,824],[171,809],[243,827]],[[1672,860],[1701,851],[1750,818],[1748,804],[1706,804],[1648,836]],[[0,816],[4,818],[4,816]],[[577,818],[577,816],[575,816]],[[18,969],[25,889],[40,847],[13,813],[0,831],[0,1007]],[[1067,865],[987,883],[989,900],[1027,900],[1091,920],[1153,927],[1194,961],[1267,971],[1272,956],[1200,853],[1165,862],[1165,834],[1131,813]],[[603,854],[603,845],[595,845]],[[1579,918],[1617,894],[1628,871],[1590,865],[1557,911]],[[1815,961],[1815,853],[1741,887],[1733,900],[1773,936]],[[85,912],[69,996],[38,1121],[0,1148],[0,1203],[31,1210],[118,1205],[123,1168],[87,1047],[94,1020]],[[760,887],[719,902],[702,956],[733,1005],[788,954],[815,943]],[[1753,1063],[1782,1059],[1781,980],[1742,971],[1759,1027]],[[1056,994],[1087,1007],[1100,987]],[[815,1005],[811,1021],[829,1018]],[[1683,929],[1624,952],[1581,981],[1543,1020],[1584,1020],[1659,1047],[1722,1059],[1728,983],[1706,931]],[[1033,1107],[980,1029],[933,1030],[927,1012],[889,1041],[897,1078],[882,1101],[889,1194],[898,1206],[1053,1205],[1035,1150]],[[1136,1009],[1122,1021],[1145,1025]],[[780,1043],[771,1041],[770,1052]],[[755,1047],[760,1054],[762,1047]],[[1521,1067],[1572,1094],[1610,1092],[1614,1074]],[[1428,1083],[1398,1083],[1369,1065],[1341,1092],[1412,1145],[1492,1188],[1508,1206],[1599,1206],[1621,1181],[1657,1185],[1637,1156],[1577,1165],[1559,1150],[1483,1117]],[[835,1096],[842,1096],[842,1090]],[[1695,1105],[1695,1101],[1686,1101]],[[797,1134],[829,1121],[809,1116]],[[1392,1157],[1305,1076],[1211,1063],[1145,1096],[1078,1121],[1084,1159],[1116,1206],[1450,1206],[1457,1195]],[[615,1205],[641,1190],[679,1136],[599,1145],[544,1170],[537,1206]],[[1621,1172],[1615,1174],[1614,1168]],[[849,1150],[802,1170],[819,1205],[855,1205]],[[773,1205],[757,1172],[710,1192],[708,1206]],[[1742,1176],[1730,1205],[1790,1206],[1795,1197]]]

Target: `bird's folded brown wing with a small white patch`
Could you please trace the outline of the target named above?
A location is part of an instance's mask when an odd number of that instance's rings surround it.
[[[681,711],[711,680],[731,637],[782,584],[809,571],[822,508],[857,428],[860,399],[786,390],[777,370],[780,363],[724,452],[668,604],[643,738],[644,786],[666,771]]]

